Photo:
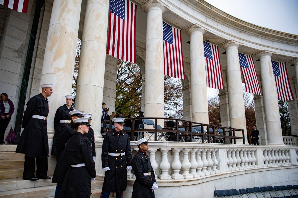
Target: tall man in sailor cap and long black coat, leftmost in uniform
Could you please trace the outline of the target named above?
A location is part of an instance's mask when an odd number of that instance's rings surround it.
[[[16,148],[16,153],[25,154],[24,180],[36,181],[51,179],[47,176],[49,143],[47,132],[47,117],[49,101],[47,97],[53,93],[52,84],[42,84],[41,93],[33,96],[27,102],[22,128],[24,128]],[[35,176],[36,159],[36,176]]]

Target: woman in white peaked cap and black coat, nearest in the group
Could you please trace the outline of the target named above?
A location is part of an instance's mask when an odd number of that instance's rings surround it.
[[[75,133],[68,140],[65,150],[69,167],[63,181],[59,197],[90,197],[91,180],[95,180],[95,162],[89,140],[84,136],[88,133],[88,118],[77,118],[71,123]]]

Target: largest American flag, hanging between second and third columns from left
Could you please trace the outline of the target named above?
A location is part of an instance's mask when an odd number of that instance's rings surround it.
[[[110,0],[107,54],[136,63],[136,4]]]

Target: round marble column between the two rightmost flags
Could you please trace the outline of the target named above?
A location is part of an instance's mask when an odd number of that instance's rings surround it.
[[[261,84],[265,109],[268,145],[284,145],[277,102],[277,90],[271,64],[271,53],[262,51],[256,54],[260,58]]]

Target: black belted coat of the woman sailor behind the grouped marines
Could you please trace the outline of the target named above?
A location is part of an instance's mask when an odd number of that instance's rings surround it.
[[[54,117],[55,133],[54,133],[54,137],[53,137],[53,145],[52,145],[51,155],[56,155],[56,139],[57,139],[57,137],[59,137],[61,135],[60,133],[62,132],[62,129],[70,124],[67,122],[60,123],[60,120],[72,120],[72,117],[71,117],[71,115],[69,115],[69,112],[73,111],[73,110],[74,110],[73,107],[70,107],[70,109],[68,109],[66,104],[63,104],[63,106],[59,107],[55,113],[55,117]],[[59,146],[60,145],[58,145],[58,147]]]

